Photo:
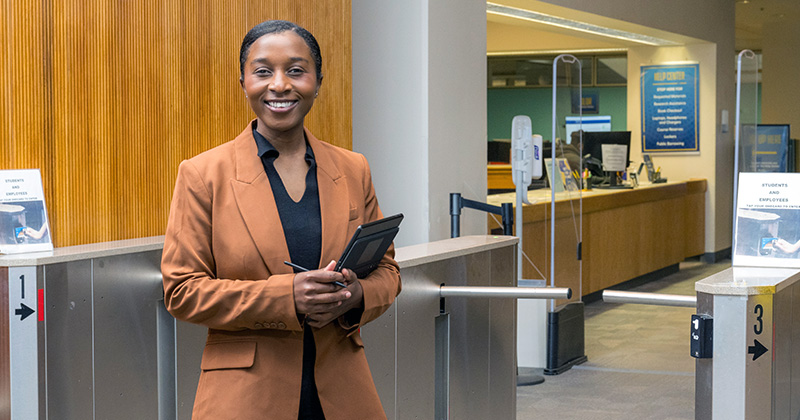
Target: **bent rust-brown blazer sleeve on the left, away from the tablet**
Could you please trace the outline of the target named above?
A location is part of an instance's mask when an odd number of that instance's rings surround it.
[[[301,330],[293,274],[265,279],[216,278],[212,191],[192,161],[178,169],[164,237],[164,303],[177,319],[220,330]]]

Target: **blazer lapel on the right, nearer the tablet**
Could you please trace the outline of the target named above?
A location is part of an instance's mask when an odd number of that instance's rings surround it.
[[[306,138],[314,151],[317,163],[317,187],[319,188],[319,207],[322,217],[322,252],[320,267],[331,260],[338,260],[347,241],[347,225],[350,218],[350,195],[345,176],[339,172],[330,149],[317,140],[306,129]]]

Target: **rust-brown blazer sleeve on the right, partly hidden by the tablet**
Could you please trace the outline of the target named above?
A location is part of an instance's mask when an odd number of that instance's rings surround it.
[[[363,155],[361,159],[364,162],[362,186],[365,197],[365,216],[367,221],[378,220],[383,218],[383,213],[378,207],[378,199],[375,196],[375,187],[372,185],[369,163],[367,163]],[[378,264],[378,268],[366,278],[361,279],[360,282],[364,290],[364,308],[361,316],[354,317],[353,314],[349,313],[339,319],[339,323],[343,328],[352,329],[353,331],[356,330],[355,327],[381,316],[389,309],[397,295],[400,294],[402,289],[400,268],[394,260],[394,244],[386,251],[386,254]]]

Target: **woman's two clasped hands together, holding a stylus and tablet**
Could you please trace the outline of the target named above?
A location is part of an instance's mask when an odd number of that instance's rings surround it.
[[[322,328],[350,309],[362,305],[363,290],[355,273],[348,269],[339,273],[333,271],[335,267],[336,262],[331,261],[321,270],[294,276],[295,308],[299,314],[307,316],[308,325],[312,327]],[[335,281],[347,287],[333,284]]]

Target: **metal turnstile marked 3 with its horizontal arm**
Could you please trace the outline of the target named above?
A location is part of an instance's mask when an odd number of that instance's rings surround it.
[[[697,296],[605,291],[613,303],[688,306],[695,419],[800,419],[800,270],[733,267]]]

